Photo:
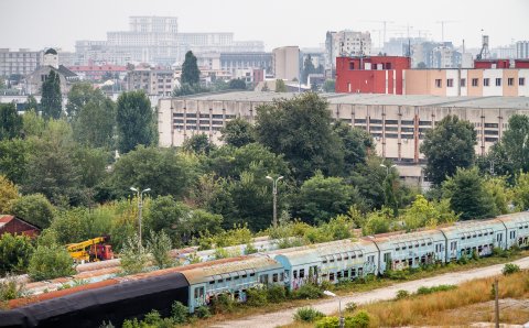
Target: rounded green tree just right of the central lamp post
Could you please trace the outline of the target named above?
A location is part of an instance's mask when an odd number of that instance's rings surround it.
[[[339,177],[324,177],[321,172],[301,185],[298,198],[299,216],[306,222],[328,221],[346,214],[357,201],[358,192]]]

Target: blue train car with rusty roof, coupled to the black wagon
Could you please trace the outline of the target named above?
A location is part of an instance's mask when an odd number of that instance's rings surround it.
[[[190,283],[190,313],[208,305],[219,294],[228,294],[236,302],[246,302],[246,291],[269,284],[283,284],[283,267],[266,255],[240,256],[191,265],[180,271]]]

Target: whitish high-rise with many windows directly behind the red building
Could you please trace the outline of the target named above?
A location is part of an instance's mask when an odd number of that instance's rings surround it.
[[[325,70],[334,77],[336,57],[367,56],[371,53],[371,35],[369,32],[344,30],[328,31],[325,37]]]

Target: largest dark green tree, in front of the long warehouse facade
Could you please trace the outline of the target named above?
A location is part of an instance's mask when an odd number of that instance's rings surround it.
[[[333,133],[327,106],[309,92],[257,109],[257,140],[276,154],[284,154],[298,182],[316,170],[328,176],[343,173],[343,144]]]

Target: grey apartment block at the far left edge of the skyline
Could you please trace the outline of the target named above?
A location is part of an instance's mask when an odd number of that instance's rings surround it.
[[[12,74],[28,75],[42,65],[44,52],[32,52],[26,48],[10,51],[0,48],[0,76]]]

